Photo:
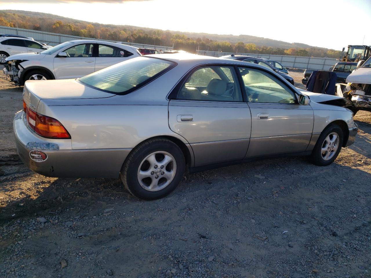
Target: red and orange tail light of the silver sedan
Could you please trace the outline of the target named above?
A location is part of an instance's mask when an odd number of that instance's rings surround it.
[[[67,130],[58,120],[36,113],[27,106],[26,106],[26,119],[30,128],[40,136],[54,139],[71,138]]]

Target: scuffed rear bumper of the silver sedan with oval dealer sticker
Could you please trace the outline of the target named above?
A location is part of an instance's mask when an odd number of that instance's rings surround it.
[[[32,171],[57,178],[118,178],[122,164],[131,149],[61,149],[66,144],[43,140],[26,126],[23,111],[14,117],[13,130],[18,154]],[[69,140],[69,139],[67,139]],[[55,140],[60,142],[61,140]],[[46,159],[36,162],[32,150],[40,150]]]

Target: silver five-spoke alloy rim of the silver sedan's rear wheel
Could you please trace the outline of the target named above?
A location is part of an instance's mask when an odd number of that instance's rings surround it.
[[[173,181],[177,163],[168,152],[153,152],[142,160],[138,169],[138,181],[148,191],[159,191]]]

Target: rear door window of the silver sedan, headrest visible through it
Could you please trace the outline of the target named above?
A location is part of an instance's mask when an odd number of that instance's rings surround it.
[[[242,94],[233,67],[210,66],[188,77],[178,99],[240,102]]]

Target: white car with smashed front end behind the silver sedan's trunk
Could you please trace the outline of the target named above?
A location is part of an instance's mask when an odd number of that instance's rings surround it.
[[[4,74],[16,85],[26,80],[79,78],[141,56],[137,47],[99,40],[72,40],[37,53],[6,59]]]

